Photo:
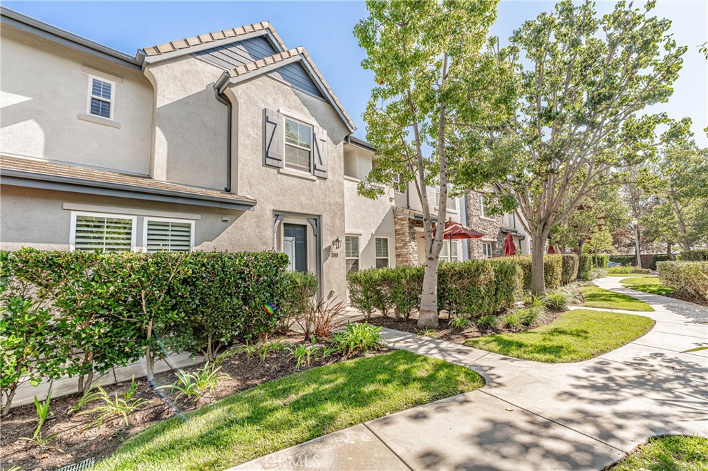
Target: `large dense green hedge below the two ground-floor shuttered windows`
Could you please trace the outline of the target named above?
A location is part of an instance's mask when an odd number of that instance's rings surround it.
[[[169,352],[207,359],[278,329],[311,296],[275,252],[0,252],[1,390]],[[302,283],[299,283],[302,287]]]

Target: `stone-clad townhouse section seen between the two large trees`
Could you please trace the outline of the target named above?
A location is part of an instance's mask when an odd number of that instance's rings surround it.
[[[489,214],[489,193],[467,191],[464,194],[465,225],[484,233],[484,237],[472,239],[467,244],[469,258],[490,258],[504,255],[504,240],[510,233],[516,246],[517,254],[531,253],[530,236],[516,214],[503,216]]]

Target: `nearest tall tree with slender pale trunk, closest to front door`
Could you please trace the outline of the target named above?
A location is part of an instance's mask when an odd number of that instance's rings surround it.
[[[367,52],[362,66],[374,71],[378,84],[364,114],[377,165],[359,192],[373,198],[383,191],[372,182],[413,182],[426,244],[421,327],[438,325],[442,231],[433,232],[430,209],[437,204],[438,221],[445,221],[448,185],[459,172],[464,170],[468,187],[476,187],[498,171],[485,164],[488,136],[480,132],[503,122],[511,103],[508,68],[484,48],[496,4],[367,1],[369,16],[354,30]],[[440,201],[430,202],[428,187],[436,184]]]

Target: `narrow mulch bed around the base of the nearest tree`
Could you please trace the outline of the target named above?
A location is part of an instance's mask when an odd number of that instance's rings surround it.
[[[562,313],[549,312],[542,319],[538,319],[534,325],[531,327],[521,326],[521,327],[504,327],[499,325],[498,328],[492,330],[479,329],[476,325],[470,325],[464,330],[456,329],[448,325],[449,319],[438,319],[439,326],[435,329],[437,335],[435,339],[445,340],[447,342],[454,342],[456,344],[464,344],[467,339],[474,339],[475,337],[484,337],[486,335],[494,334],[506,334],[512,332],[525,332],[526,330],[535,329],[536,327],[541,327],[542,325],[549,324],[557,318],[560,317]],[[387,327],[389,329],[401,330],[403,332],[410,332],[411,334],[422,335],[420,327],[418,327],[418,319],[405,320],[404,318],[384,318],[375,317],[368,321],[372,325],[379,325],[381,327]],[[430,336],[432,337],[432,336]]]

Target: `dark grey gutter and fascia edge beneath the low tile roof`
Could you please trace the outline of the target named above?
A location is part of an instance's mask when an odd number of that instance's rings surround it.
[[[191,204],[201,207],[217,207],[224,209],[240,209],[248,211],[256,206],[253,199],[236,199],[229,197],[209,196],[206,194],[189,194],[185,192],[159,188],[137,187],[115,182],[84,180],[81,178],[50,175],[45,173],[26,172],[23,170],[2,169],[0,175],[2,185],[40,188],[75,193],[103,194],[106,196],[147,199],[149,201]]]

